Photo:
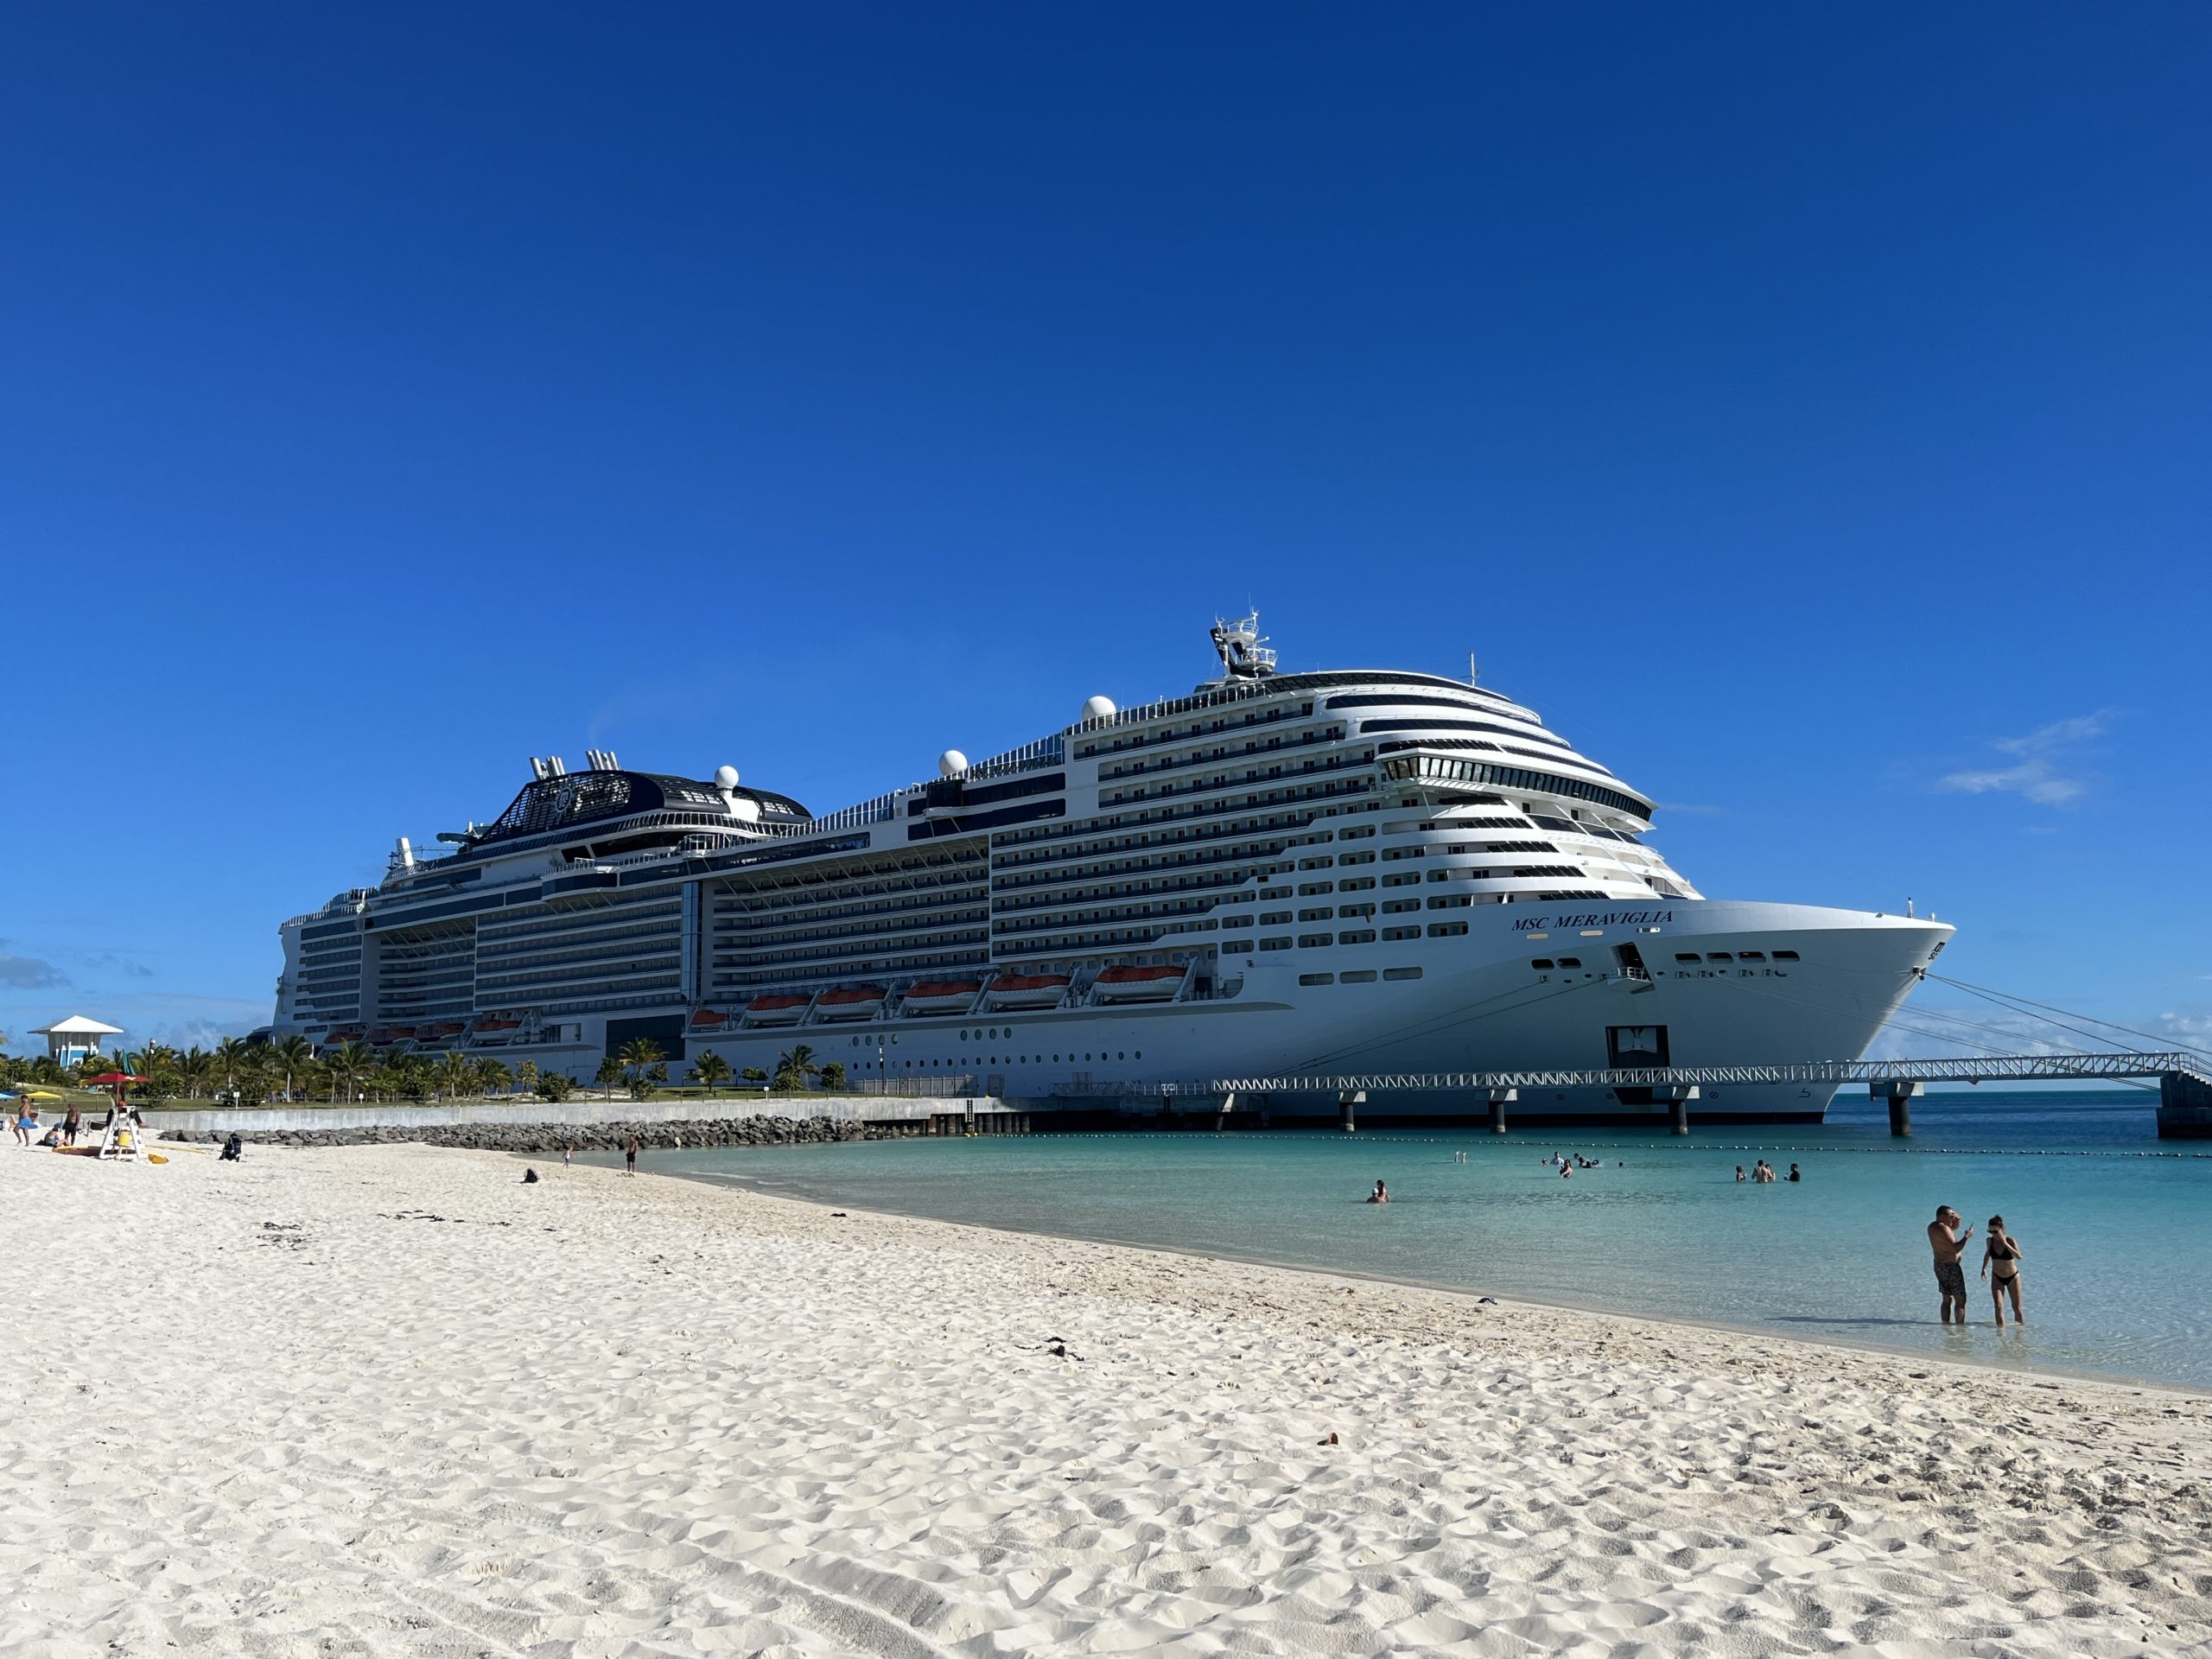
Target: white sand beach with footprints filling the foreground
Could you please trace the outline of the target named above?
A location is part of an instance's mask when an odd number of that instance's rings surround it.
[[[520,1172],[0,1152],[0,1652],[2212,1641],[2212,1398]]]

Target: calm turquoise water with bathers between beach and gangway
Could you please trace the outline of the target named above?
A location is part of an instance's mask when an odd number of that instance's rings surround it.
[[[2212,1387],[2212,1148],[2157,1139],[2150,1093],[1838,1102],[1820,1128],[1119,1133],[648,1152],[664,1175],[843,1208],[1486,1290],[1787,1336]],[[1601,1170],[1540,1159],[1579,1148]],[[1467,1161],[1455,1159],[1458,1152]],[[1765,1152],[1796,1186],[1736,1186]],[[1360,1199],[1376,1177],[1391,1203]],[[1922,1230],[1975,1223],[1973,1325],[1936,1323]],[[2026,1329],[1980,1287],[2002,1212]]]

